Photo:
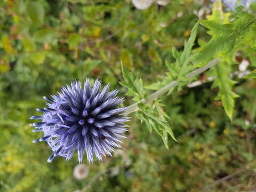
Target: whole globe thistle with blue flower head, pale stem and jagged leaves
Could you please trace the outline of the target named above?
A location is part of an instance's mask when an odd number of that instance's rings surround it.
[[[126,95],[135,101],[132,105],[118,107],[124,102],[124,98],[117,97],[117,90],[108,92],[109,84],[100,90],[101,82],[98,79],[92,87],[89,79],[86,79],[83,87],[76,81],[63,86],[61,92],[51,95],[52,98],[44,97],[47,107],[37,109],[43,115],[31,117],[41,119],[41,122],[33,123],[31,126],[35,127],[33,131],[44,133],[43,137],[33,142],[46,141],[53,151],[48,162],[52,162],[56,156],[65,157],[68,161],[76,151],[80,163],[83,161],[84,153],[89,163],[93,162],[94,155],[99,161],[102,161],[102,156],[111,156],[115,147],[121,148],[119,143],[125,138],[124,133],[128,127],[125,124],[129,121],[127,115],[132,112],[137,114],[142,123],[146,123],[150,132],[156,131],[168,148],[169,135],[176,139],[168,123],[169,117],[164,113],[164,104],[159,98],[164,93],[171,93],[174,87],[177,87],[178,91],[181,90],[191,79],[210,68],[216,76],[213,87],[219,89],[216,99],[222,101],[226,114],[232,119],[237,94],[233,91],[234,82],[229,77],[230,58],[235,57],[238,44],[244,46],[254,41],[254,36],[250,34],[255,33],[256,18],[252,13],[241,11],[235,22],[226,25],[228,14],[219,14],[221,6],[221,1],[215,2],[213,13],[208,16],[208,20],[196,23],[183,52],[173,47],[172,55],[176,61],[166,61],[169,71],[162,77],[162,81],[144,86],[141,78],[122,65],[124,81],[120,84],[128,89]],[[219,17],[223,17],[221,22],[215,22],[220,20]],[[210,29],[212,39],[194,54],[192,49],[199,22]],[[222,29],[221,34],[219,28]],[[254,77],[253,75],[249,74]],[[148,90],[155,92],[149,94]]]

